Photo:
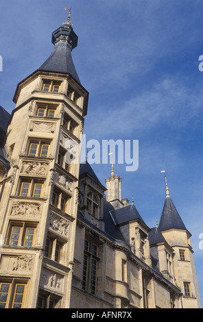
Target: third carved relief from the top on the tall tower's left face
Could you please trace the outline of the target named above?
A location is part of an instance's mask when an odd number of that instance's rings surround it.
[[[12,211],[10,216],[26,216],[27,218],[36,218],[39,217],[41,213],[42,205],[40,205],[40,203],[14,201],[12,203]]]

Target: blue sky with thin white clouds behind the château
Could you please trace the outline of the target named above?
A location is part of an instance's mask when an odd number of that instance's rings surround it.
[[[192,234],[203,303],[202,120],[203,3],[201,0],[1,1],[0,105],[12,112],[16,85],[45,62],[51,33],[67,18],[78,35],[73,61],[90,93],[87,140],[139,140],[139,169],[122,177],[122,197],[134,202],[149,227],[171,199]],[[115,160],[116,162],[116,160]],[[105,184],[110,164],[93,164]]]

